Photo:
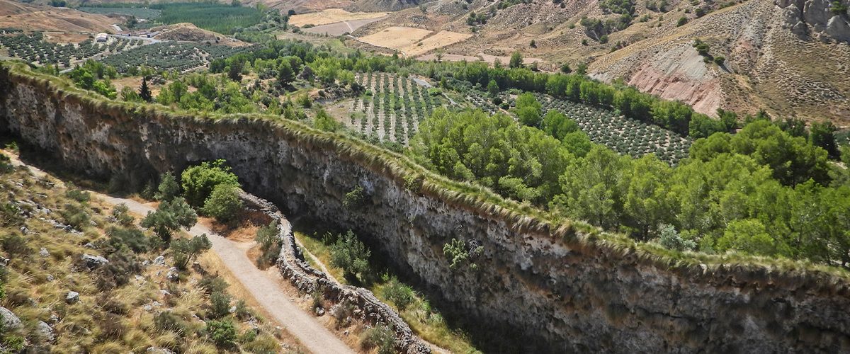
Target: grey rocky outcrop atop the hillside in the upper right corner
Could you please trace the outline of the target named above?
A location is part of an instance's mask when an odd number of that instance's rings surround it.
[[[782,8],[784,26],[796,35],[850,42],[850,18],[847,11],[843,14],[833,11],[832,0],[775,0],[774,3]],[[848,6],[847,0],[837,3]]]

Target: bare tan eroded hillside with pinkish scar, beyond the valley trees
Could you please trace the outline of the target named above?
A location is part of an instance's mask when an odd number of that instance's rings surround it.
[[[587,65],[592,77],[622,80],[710,115],[717,108],[764,109],[850,122],[850,83],[843,79],[850,75],[850,26],[847,15],[830,13],[829,3],[697,0],[657,8],[624,2],[633,7],[632,20],[620,31],[621,15],[609,3],[439,0],[393,13],[359,33],[394,25],[469,33],[445,53],[468,60],[519,51],[544,59],[539,67],[552,71]],[[707,45],[703,53],[694,47],[698,39]],[[724,60],[717,65],[715,58]]]

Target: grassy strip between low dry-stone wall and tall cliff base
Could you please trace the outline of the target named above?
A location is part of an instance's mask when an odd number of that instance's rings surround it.
[[[326,267],[328,272],[331,273],[331,276],[336,278],[340,283],[362,286],[365,287],[365,289],[369,289],[375,294],[375,296],[377,296],[378,300],[389,306],[393,306],[395,311],[399,312],[401,318],[405,320],[405,323],[411,326],[413,333],[421,337],[423,340],[427,340],[433,345],[439,346],[453,353],[479,352],[475,349],[467,335],[463,334],[459,329],[452,329],[449,324],[445,322],[445,318],[443,318],[436,309],[431,307],[428,300],[421,294],[411,290],[412,297],[410,304],[405,306],[404,309],[399,309],[399,307],[396,306],[395,303],[386,295],[385,289],[391,283],[390,279],[395,278],[394,275],[388,273],[388,271],[380,276],[377,274],[370,274],[368,277],[372,278],[372,280],[366,282],[366,284],[353,284],[352,281],[345,278],[342,268],[334,267],[332,265],[329,245],[320,239],[317,234],[314,233],[312,236],[309,236],[306,233],[298,231],[294,232],[294,234],[298,242],[301,243],[303,247],[310,252],[310,254],[318,258],[312,261],[315,265],[311,264],[311,266],[321,270],[322,267],[319,266],[319,264],[321,264]],[[305,255],[305,258],[312,257]],[[370,262],[370,267],[372,269],[376,267],[373,261]],[[410,288],[408,287],[408,289]]]

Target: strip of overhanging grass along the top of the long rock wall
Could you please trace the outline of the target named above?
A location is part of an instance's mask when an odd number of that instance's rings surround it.
[[[66,78],[37,73],[20,62],[2,62],[4,70],[10,70],[13,80],[41,84],[48,90],[58,92],[62,97],[70,97],[108,110],[115,115],[129,115],[133,120],[149,119],[160,121],[182,120],[186,124],[206,124],[217,121],[219,124],[234,126],[235,129],[273,128],[275,134],[294,138],[292,143],[302,143],[321,149],[332,149],[340,155],[346,155],[360,165],[377,173],[393,178],[400,186],[405,179],[421,181],[411,188],[411,192],[437,197],[450,205],[459,206],[481,216],[501,220],[517,233],[530,232],[554,239],[563,239],[571,248],[584,248],[588,251],[606,254],[605,250],[625,257],[634,256],[637,261],[649,262],[656,267],[677,269],[686,273],[702,273],[711,276],[716,272],[735,272],[735,274],[781,276],[797,279],[817,280],[817,286],[830,288],[843,286],[850,282],[850,272],[840,267],[813,264],[809,261],[793,261],[779,258],[745,256],[740,254],[707,255],[694,252],[666,250],[651,243],[638,243],[620,233],[607,233],[586,222],[570,221],[531,205],[520,204],[511,199],[502,198],[483,186],[458,182],[429,171],[416,164],[410,158],[366,143],[343,133],[323,132],[299,121],[286,121],[275,115],[221,115],[209,112],[190,112],[175,110],[161,104],[137,104],[111,100],[97,93],[82,90]],[[0,84],[3,84],[0,82]],[[257,121],[261,126],[248,126],[246,121]],[[833,278],[830,278],[833,277]],[[763,277],[762,277],[763,280]]]

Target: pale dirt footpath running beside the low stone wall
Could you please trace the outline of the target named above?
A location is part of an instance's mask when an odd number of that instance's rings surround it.
[[[17,156],[9,154],[9,157],[14,165],[28,167],[37,177],[47,175],[36,167],[22,163],[17,159]],[[133,199],[111,197],[94,191],[91,193],[111,205],[127,205],[130,211],[139,215],[145,215],[148,211],[156,210]],[[212,230],[200,223],[195,224],[189,230],[189,233],[192,236],[207,233],[207,238],[212,243],[212,251],[221,258],[230,273],[233,273],[245,289],[257,299],[258,303],[272,314],[278,323],[285,326],[286,330],[294,335],[307,350],[316,354],[354,353],[342,340],[321,325],[315,317],[304,312],[301,307],[293,303],[283,289],[280,289],[280,284],[275,279],[269,278],[269,276],[263,274],[263,271],[255,267],[246,255],[246,250],[240,248],[238,243],[224,239],[224,237],[213,233]]]

